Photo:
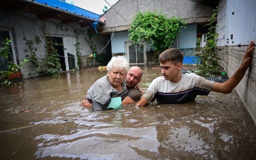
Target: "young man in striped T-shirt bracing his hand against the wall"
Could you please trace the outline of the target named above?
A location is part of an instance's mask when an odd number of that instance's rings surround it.
[[[161,77],[152,81],[147,92],[136,105],[144,107],[155,99],[159,104],[179,104],[194,101],[197,95],[208,95],[210,91],[231,93],[242,80],[250,65],[250,55],[254,42],[247,46],[242,64],[224,83],[206,80],[194,73],[181,74],[183,53],[176,48],[169,48],[159,56]]]

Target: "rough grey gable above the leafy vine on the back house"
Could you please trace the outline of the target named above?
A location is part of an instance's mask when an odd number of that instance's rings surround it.
[[[113,8],[102,15],[106,18],[103,28],[129,26],[138,11],[159,10],[167,17],[186,18],[187,23],[206,22],[213,13],[212,8],[192,0],[120,0]]]

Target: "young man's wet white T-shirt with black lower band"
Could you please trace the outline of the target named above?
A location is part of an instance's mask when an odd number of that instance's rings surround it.
[[[181,80],[173,83],[163,76],[152,81],[143,95],[149,101],[160,104],[179,104],[195,100],[197,95],[208,95],[214,81],[206,80],[194,73],[181,74]]]

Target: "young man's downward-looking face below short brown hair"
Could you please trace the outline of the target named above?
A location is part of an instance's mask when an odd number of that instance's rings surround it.
[[[161,74],[165,80],[170,80],[171,82],[178,82],[180,77],[178,73],[181,73],[181,63],[174,65],[172,62],[160,63]],[[178,81],[177,81],[178,80]]]

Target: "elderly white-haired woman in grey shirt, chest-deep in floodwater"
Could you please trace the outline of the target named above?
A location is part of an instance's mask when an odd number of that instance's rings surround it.
[[[96,80],[89,88],[86,98],[92,102],[92,111],[105,111],[111,98],[123,99],[128,91],[126,88],[126,74],[129,62],[124,56],[115,56],[107,64],[107,75]]]

